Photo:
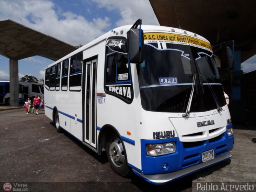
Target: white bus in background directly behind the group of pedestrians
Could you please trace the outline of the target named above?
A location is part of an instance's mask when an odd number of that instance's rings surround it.
[[[44,86],[35,82],[19,82],[24,94],[24,100],[30,97],[30,100],[33,101],[35,95],[39,95],[41,98],[44,97]]]

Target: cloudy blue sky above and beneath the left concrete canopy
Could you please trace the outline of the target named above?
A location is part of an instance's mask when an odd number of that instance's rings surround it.
[[[13,20],[74,46],[138,18],[142,24],[159,25],[149,0],[0,0],[0,20]],[[19,60],[19,77],[44,78],[44,68],[52,62],[39,56]],[[9,80],[9,59],[2,55],[0,80]]]

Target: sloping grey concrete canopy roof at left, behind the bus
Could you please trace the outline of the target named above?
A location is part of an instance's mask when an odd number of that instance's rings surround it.
[[[56,61],[76,49],[12,20],[0,21],[0,54],[7,58],[20,60],[42,56]]]

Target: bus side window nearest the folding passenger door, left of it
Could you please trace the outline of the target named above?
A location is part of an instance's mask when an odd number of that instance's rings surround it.
[[[82,88],[82,62],[83,54],[80,53],[70,60],[69,90],[80,91]]]

